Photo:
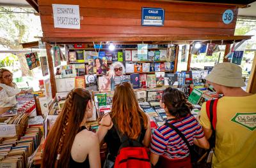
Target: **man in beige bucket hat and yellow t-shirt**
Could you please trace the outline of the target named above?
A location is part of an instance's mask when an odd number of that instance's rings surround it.
[[[256,167],[256,94],[248,94],[244,87],[242,69],[236,64],[217,64],[205,78],[218,94],[215,167]],[[211,123],[205,103],[199,118],[205,136],[211,137]]]

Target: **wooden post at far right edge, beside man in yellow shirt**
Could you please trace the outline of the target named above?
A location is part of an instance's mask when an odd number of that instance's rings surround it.
[[[246,92],[256,94],[256,52],[254,52],[254,60],[252,64],[250,78],[247,83]]]

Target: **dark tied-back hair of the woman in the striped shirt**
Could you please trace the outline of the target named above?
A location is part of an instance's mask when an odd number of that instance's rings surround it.
[[[162,95],[162,102],[168,109],[167,115],[172,115],[175,119],[191,115],[191,109],[193,105],[186,99],[184,92],[177,88],[166,88]]]

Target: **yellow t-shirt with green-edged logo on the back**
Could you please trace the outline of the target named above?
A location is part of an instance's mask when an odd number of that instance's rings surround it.
[[[205,103],[199,120],[204,128],[211,129]],[[214,168],[256,167],[256,94],[218,101],[215,154]]]

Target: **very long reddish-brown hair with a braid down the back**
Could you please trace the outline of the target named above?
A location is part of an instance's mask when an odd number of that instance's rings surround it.
[[[41,167],[69,167],[72,144],[91,99],[92,95],[84,88],[75,88],[68,93],[63,109],[47,136]]]

